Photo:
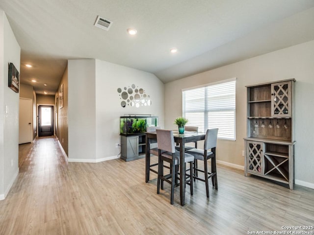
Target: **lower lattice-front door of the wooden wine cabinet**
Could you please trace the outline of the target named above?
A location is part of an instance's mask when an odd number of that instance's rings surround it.
[[[246,148],[246,171],[263,175],[263,143],[257,141],[247,141]]]

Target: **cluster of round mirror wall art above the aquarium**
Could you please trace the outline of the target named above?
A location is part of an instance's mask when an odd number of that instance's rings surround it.
[[[124,90],[124,91],[123,91]],[[152,100],[150,95],[145,93],[143,88],[138,88],[135,84],[122,88],[118,88],[117,92],[119,93],[121,99],[121,107],[125,108],[127,105],[131,107],[139,108],[141,106],[151,106]]]

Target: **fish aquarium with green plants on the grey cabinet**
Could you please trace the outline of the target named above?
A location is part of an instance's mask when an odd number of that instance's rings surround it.
[[[157,116],[122,116],[120,117],[120,135],[138,135],[146,132],[148,126],[158,126]]]

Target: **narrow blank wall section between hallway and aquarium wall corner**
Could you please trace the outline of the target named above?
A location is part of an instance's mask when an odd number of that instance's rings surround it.
[[[95,160],[95,60],[68,60],[68,86],[68,161]]]

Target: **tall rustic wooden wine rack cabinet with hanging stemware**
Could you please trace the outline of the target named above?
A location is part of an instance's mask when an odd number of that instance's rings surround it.
[[[247,86],[245,176],[258,175],[293,189],[295,79]]]

